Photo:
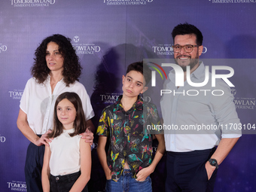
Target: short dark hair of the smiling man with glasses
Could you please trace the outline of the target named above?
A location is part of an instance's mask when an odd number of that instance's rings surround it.
[[[194,34],[197,37],[197,45],[201,46],[203,44],[203,35],[202,32],[200,32],[199,29],[197,29],[196,26],[184,23],[184,24],[178,24],[178,26],[175,26],[175,28],[172,30],[172,39],[174,42],[174,38],[176,35],[189,35]]]

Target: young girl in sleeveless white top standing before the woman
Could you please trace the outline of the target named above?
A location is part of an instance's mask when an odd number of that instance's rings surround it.
[[[54,106],[53,138],[45,146],[42,186],[50,191],[87,191],[90,180],[90,145],[79,136],[86,130],[82,102],[77,93],[65,92]]]

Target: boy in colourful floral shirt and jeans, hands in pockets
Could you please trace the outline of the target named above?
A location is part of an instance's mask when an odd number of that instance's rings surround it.
[[[160,119],[156,106],[143,103],[139,96],[148,89],[150,75],[148,68],[143,70],[143,62],[130,64],[123,76],[123,95],[102,111],[97,152],[107,178],[106,192],[152,191],[149,175],[163,157],[165,145],[163,134],[155,135],[159,144],[152,160],[152,135],[145,124],[158,125]]]

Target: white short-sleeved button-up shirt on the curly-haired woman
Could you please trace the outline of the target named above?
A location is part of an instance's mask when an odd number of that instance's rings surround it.
[[[80,96],[86,120],[94,116],[90,97],[84,85],[78,81],[66,87],[65,82],[61,80],[51,93],[50,75],[44,84],[38,84],[35,78],[30,78],[20,100],[20,109],[27,114],[29,126],[35,134],[41,135],[47,130],[53,129],[53,111],[56,98],[64,92],[75,92]]]

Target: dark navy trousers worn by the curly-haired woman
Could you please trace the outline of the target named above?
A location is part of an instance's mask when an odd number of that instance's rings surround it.
[[[42,192],[41,169],[44,163],[44,145],[29,144],[26,151],[25,177],[28,192]]]

